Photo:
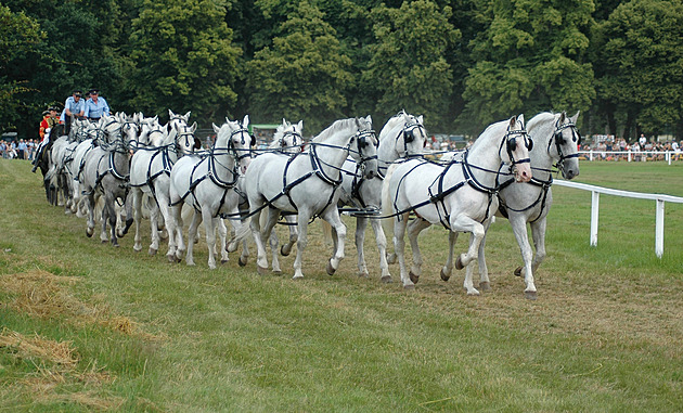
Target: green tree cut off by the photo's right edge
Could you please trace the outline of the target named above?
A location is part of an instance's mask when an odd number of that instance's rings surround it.
[[[600,28],[601,96],[626,116],[626,138],[683,137],[683,4],[634,0]],[[667,128],[668,126],[668,128]],[[635,127],[635,131],[632,127]],[[668,129],[668,130],[665,130]],[[616,132],[616,131],[613,131]]]

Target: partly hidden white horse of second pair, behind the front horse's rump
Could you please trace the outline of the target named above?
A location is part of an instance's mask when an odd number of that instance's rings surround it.
[[[339,206],[358,208],[356,214],[356,249],[358,251],[358,275],[369,276],[365,263],[364,243],[365,229],[370,220],[377,249],[379,250],[381,280],[384,283],[391,282],[389,266],[387,262],[387,238],[378,219],[369,218],[366,211],[382,210],[382,184],[383,176],[387,168],[397,159],[420,157],[427,140],[427,132],[422,116],[414,116],[399,112],[391,117],[379,132],[379,146],[377,146],[377,170],[379,176],[373,179],[364,179],[358,175],[358,164],[353,159],[344,163],[342,182],[342,195]]]

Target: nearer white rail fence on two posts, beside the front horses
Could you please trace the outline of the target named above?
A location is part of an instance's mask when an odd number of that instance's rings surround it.
[[[645,194],[642,192],[619,191],[609,188],[589,185],[587,183],[569,182],[560,179],[553,181],[553,184],[560,186],[574,188],[577,190],[591,191],[591,246],[597,246],[597,221],[600,212],[600,194],[608,194],[616,196],[626,196],[639,199],[656,201],[655,217],[655,254],[658,258],[663,255],[663,211],[665,202],[683,204],[683,197],[662,195],[662,194]]]

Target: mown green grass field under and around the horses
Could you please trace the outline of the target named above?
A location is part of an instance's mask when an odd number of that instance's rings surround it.
[[[582,163],[579,182],[683,196],[683,164]],[[439,279],[446,231],[421,237],[414,292],[398,269],[356,276],[310,227],[300,282],[256,274],[236,256],[215,271],[85,236],[85,220],[44,199],[24,162],[0,159],[0,412],[675,412],[683,406],[683,205],[553,188],[538,300],[524,299],[510,225],[495,222],[492,289]],[[282,230],[282,229],[280,229]],[[284,230],[283,230],[284,231]],[[145,228],[143,242],[149,243]],[[282,238],[282,237],[281,237]],[[466,236],[459,240],[465,247]],[[145,248],[146,249],[146,248]],[[165,249],[162,249],[163,254]],[[252,255],[254,257],[255,249]]]

